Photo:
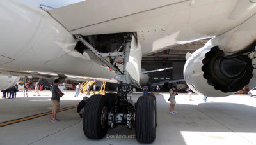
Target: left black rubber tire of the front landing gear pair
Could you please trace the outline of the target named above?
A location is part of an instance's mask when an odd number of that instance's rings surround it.
[[[108,130],[108,113],[106,114],[106,121],[101,123],[103,108],[108,112],[108,101],[104,95],[92,95],[84,107],[83,130],[84,135],[89,139],[101,139],[106,135]]]

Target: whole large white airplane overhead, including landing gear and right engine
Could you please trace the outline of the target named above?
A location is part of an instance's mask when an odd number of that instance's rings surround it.
[[[137,3],[88,0],[45,10],[38,8],[39,1],[31,5],[1,2],[0,8],[6,8],[1,24],[10,29],[3,30],[0,46],[12,49],[0,53],[0,72],[28,70],[116,79],[117,93],[92,95],[88,100],[84,135],[100,139],[108,128],[125,125],[135,128],[136,139],[143,143],[154,141],[157,126],[156,97],[147,94],[136,103],[131,100],[133,88],[141,88],[143,55],[212,38],[188,56],[184,79],[191,90],[222,97],[248,84],[255,57],[248,57],[255,52],[255,2],[143,1],[150,4],[136,7]],[[220,13],[219,6],[223,6]],[[13,24],[15,20],[26,29]],[[15,36],[10,35],[13,30]],[[10,39],[17,43],[6,43]]]

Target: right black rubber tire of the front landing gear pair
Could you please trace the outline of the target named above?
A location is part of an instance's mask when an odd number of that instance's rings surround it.
[[[153,97],[140,96],[135,116],[135,134],[138,142],[151,143],[156,139],[156,111]]]

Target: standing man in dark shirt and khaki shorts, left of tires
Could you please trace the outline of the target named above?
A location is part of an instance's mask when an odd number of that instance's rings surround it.
[[[60,97],[61,94],[63,94],[60,89],[58,88],[58,85],[60,84],[59,79],[54,80],[54,85],[52,86],[52,122],[58,122],[58,119],[56,119],[57,111],[60,109]]]

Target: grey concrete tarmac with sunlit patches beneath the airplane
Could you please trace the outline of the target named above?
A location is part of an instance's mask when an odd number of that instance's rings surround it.
[[[74,97],[74,91],[64,91],[61,108],[76,106],[85,95]],[[41,96],[23,97],[17,92],[16,99],[0,99],[0,124],[52,110],[51,92],[44,90]],[[136,102],[142,93],[134,93]],[[207,98],[193,93],[192,101],[187,93],[176,97],[178,114],[170,115],[168,93],[156,94],[157,128],[152,144],[256,144],[256,97],[232,95]],[[83,133],[82,118],[76,107],[57,114],[59,122],[51,121],[51,114],[0,127],[0,144],[140,144],[135,129],[124,126],[109,129],[100,140],[87,139]]]

